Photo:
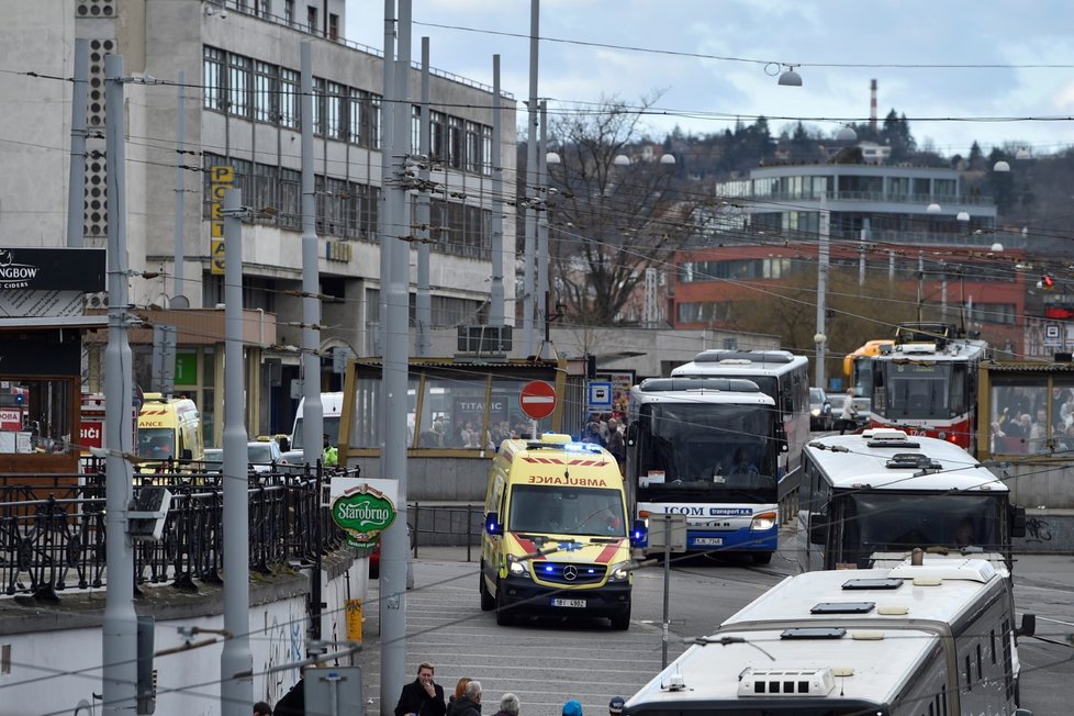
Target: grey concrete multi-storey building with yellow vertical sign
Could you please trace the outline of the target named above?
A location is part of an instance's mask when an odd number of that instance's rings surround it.
[[[366,10],[368,3],[359,5]],[[33,3],[5,27],[0,96],[4,176],[0,178],[0,246],[65,246],[70,82],[76,38],[90,47],[85,158],[86,246],[108,234],[104,57],[124,57],[126,203],[135,306],[212,309],[223,276],[211,269],[211,169],[231,167],[243,202],[244,304],[277,317],[277,346],[301,345],[300,46],[312,44],[314,171],[320,242],[322,349],[376,355],[380,291],[383,58],[349,43],[345,0],[77,0]],[[369,22],[382,22],[370,16]],[[435,53],[434,53],[435,57]],[[489,58],[490,78],[492,58]],[[417,154],[421,72],[411,78],[412,154]],[[180,81],[181,78],[181,81]],[[515,266],[515,107],[504,96],[503,269]],[[440,70],[430,78],[430,286],[433,325],[480,323],[492,270],[492,88]],[[178,136],[179,111],[183,136]],[[180,146],[181,142],[181,146]],[[177,165],[183,188],[178,189]],[[176,198],[181,198],[177,212]],[[412,202],[413,203],[413,202]],[[412,208],[413,210],[413,208]],[[175,280],[177,214],[182,219],[182,281]],[[416,249],[412,257],[416,255]],[[412,267],[416,259],[412,258]],[[412,279],[416,280],[416,269]],[[511,276],[513,270],[506,276]],[[152,278],[149,278],[152,277]],[[412,283],[413,286],[413,283]],[[504,315],[513,316],[514,281],[504,281]],[[414,289],[412,288],[412,303]],[[186,299],[183,301],[182,299]],[[290,379],[298,354],[258,345],[260,412],[250,429],[290,427]],[[134,347],[148,360],[148,346]],[[182,356],[187,353],[192,356]],[[177,385],[203,411],[220,409],[222,350],[179,346],[198,366]],[[94,387],[92,360],[83,383]],[[323,384],[335,385],[326,357]],[[219,422],[217,422],[219,423]],[[214,437],[209,436],[210,440]]]

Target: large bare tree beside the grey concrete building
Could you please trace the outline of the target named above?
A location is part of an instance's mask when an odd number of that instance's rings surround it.
[[[689,235],[675,167],[644,136],[641,119],[656,99],[640,109],[603,100],[550,123],[561,163],[548,177],[549,284],[574,323],[625,323],[646,269],[667,270]]]

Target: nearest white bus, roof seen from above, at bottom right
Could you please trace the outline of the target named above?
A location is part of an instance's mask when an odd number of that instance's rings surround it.
[[[1016,711],[1007,580],[985,560],[920,561],[788,577],[696,639],[624,716],[1031,716]]]

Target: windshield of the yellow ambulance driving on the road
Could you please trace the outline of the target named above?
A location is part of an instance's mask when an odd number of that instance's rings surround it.
[[[551,485],[515,485],[504,528],[557,535],[625,537],[626,519],[618,490]]]

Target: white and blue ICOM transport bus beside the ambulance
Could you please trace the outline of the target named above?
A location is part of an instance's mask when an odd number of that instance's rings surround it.
[[[651,378],[630,390],[626,478],[636,515],[686,516],[686,549],[776,549],[776,473],[786,440],[757,383]]]

